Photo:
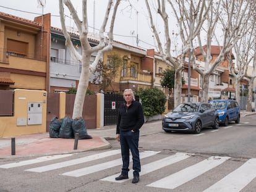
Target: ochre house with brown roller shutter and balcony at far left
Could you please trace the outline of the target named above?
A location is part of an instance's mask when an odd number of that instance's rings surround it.
[[[0,89],[48,90],[50,15],[34,21],[0,12]]]

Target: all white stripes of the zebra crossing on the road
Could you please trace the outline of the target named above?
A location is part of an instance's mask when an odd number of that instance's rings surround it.
[[[140,152],[140,159],[150,159],[151,157],[157,156],[161,151],[143,151]],[[75,154],[61,154],[55,156],[45,156],[35,159],[30,159],[27,161],[14,162],[9,164],[0,165],[1,169],[14,169],[15,167],[23,167],[28,165],[33,165],[33,168],[24,169],[25,172],[37,172],[43,173],[51,170],[62,169],[64,167],[70,167],[72,165],[79,165],[85,162],[92,162],[95,160],[102,160],[103,162],[90,165],[88,167],[83,167],[82,169],[75,169],[69,172],[58,173],[59,177],[68,176],[68,177],[87,177],[87,175],[101,172],[106,169],[111,169],[116,167],[116,173],[105,178],[99,178],[101,182],[111,182],[111,183],[125,183],[133,178],[132,171],[129,172],[129,179],[116,181],[115,177],[120,174],[120,168],[122,165],[122,159],[116,158],[115,155],[120,154],[120,149],[113,149],[105,152],[98,152],[90,156],[79,157],[76,159],[68,161],[60,161],[58,163],[51,163],[56,159],[64,159],[64,157],[75,156]],[[114,157],[114,160],[106,160],[106,157]],[[194,154],[187,154],[184,152],[176,152],[175,154],[161,156],[161,159],[156,159],[153,161],[148,161],[147,164],[142,164],[142,172],[140,172],[140,177],[143,178],[144,175],[153,174],[153,172],[163,169],[168,166],[172,166],[176,163],[188,160],[189,158],[194,158]],[[132,159],[132,157],[130,157]],[[153,158],[152,158],[153,159]],[[181,169],[177,172],[171,173],[169,175],[163,176],[163,178],[157,178],[151,183],[147,183],[145,187],[150,188],[163,188],[168,190],[173,190],[179,188],[181,185],[190,182],[191,180],[200,177],[203,173],[211,171],[223,164],[226,161],[229,161],[231,157],[226,156],[209,156],[203,158],[202,161],[189,165],[184,169]],[[44,162],[47,165],[34,167],[36,164]],[[204,192],[211,191],[241,191],[245,186],[247,186],[252,180],[256,177],[256,158],[248,159],[241,166],[236,167],[233,172],[226,173],[223,178],[220,178],[213,185],[208,186]],[[140,183],[138,183],[140,185]],[[143,184],[142,184],[143,185]]]

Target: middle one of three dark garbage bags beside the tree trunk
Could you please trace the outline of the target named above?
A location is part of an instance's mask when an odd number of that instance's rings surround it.
[[[74,138],[74,133],[72,130],[73,119],[70,117],[64,117],[61,119],[61,128],[59,129],[59,137],[71,139]]]

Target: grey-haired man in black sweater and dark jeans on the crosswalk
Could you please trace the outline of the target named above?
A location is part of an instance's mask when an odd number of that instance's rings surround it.
[[[116,138],[120,141],[122,153],[122,172],[116,180],[128,178],[129,156],[132,152],[132,169],[134,169],[134,179],[132,183],[138,183],[140,172],[139,156],[139,129],[144,123],[142,104],[135,101],[134,93],[131,89],[124,90],[124,100],[126,101],[119,108]]]

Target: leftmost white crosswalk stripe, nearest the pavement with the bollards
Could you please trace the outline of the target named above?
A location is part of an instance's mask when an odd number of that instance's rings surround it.
[[[36,159],[30,159],[30,160],[27,160],[27,161],[20,161],[20,162],[14,162],[14,163],[11,163],[11,164],[0,165],[0,168],[9,169],[9,168],[13,168],[13,167],[20,167],[20,166],[23,166],[23,165],[30,165],[30,164],[37,164],[39,162],[51,161],[51,160],[54,160],[54,159],[60,159],[60,158],[63,158],[63,157],[68,157],[68,156],[72,156],[72,154],[43,156],[43,157],[38,157]]]

